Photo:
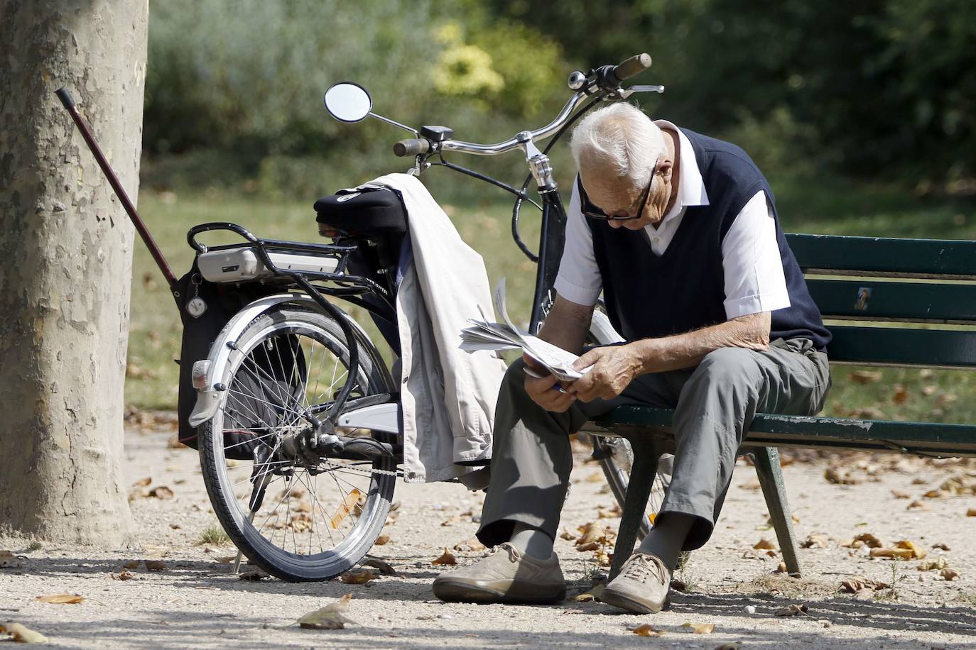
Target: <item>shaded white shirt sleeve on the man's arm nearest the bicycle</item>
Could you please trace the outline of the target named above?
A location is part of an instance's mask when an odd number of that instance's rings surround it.
[[[556,292],[578,305],[591,306],[603,289],[600,270],[593,256],[593,234],[581,208],[580,187],[573,181],[573,197],[566,210],[566,238],[556,275]]]

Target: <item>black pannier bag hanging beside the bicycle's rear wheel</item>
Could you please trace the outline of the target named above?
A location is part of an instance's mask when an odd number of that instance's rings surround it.
[[[193,363],[207,359],[224,325],[241,308],[279,290],[279,287],[259,283],[209,283],[200,276],[195,260],[189,272],[177,282],[173,295],[183,320],[178,402],[179,440],[183,444],[194,449],[198,445],[196,428],[189,424],[197,396],[192,382]],[[194,318],[186,308],[187,303],[196,297],[207,305],[206,311],[198,318]],[[237,372],[234,383],[228,387],[231,394],[224,409],[224,454],[227,458],[252,459],[254,449],[261,444],[260,437],[267,433],[267,427],[277,426],[288,417],[281,407],[281,396],[300,397],[305,384],[305,359],[298,339],[281,336],[276,340],[293,348],[282,359],[295,359],[297,366],[296,363],[281,363],[277,357],[275,363],[271,363],[266,353],[252,353],[244,362],[244,369]],[[294,356],[292,351],[295,352]]]

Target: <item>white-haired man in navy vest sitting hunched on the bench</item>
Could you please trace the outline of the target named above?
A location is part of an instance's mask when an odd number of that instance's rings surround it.
[[[552,551],[567,494],[568,436],[624,403],[674,408],[671,486],[654,528],[603,591],[658,612],[682,550],[705,544],[757,412],[808,415],[830,386],[830,333],[780,228],[772,192],[739,147],[615,103],[573,132],[579,176],[558,297],[541,337],[579,354],[603,291],[627,343],[594,348],[559,386],[522,360],[496,413],[492,478],[478,538],[495,552],[443,573],[444,600],[552,602]],[[561,389],[561,390],[560,390]]]

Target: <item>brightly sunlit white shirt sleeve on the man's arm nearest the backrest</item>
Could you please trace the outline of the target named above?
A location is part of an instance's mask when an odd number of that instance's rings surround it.
[[[722,241],[725,318],[790,306],[776,220],[762,190],[736,216]],[[560,269],[561,273],[561,269]]]

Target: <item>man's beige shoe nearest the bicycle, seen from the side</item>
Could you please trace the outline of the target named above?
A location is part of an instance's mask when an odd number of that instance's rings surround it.
[[[566,597],[566,581],[556,554],[538,559],[506,543],[470,566],[437,576],[433,594],[449,602],[552,603]]]

